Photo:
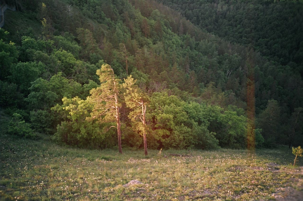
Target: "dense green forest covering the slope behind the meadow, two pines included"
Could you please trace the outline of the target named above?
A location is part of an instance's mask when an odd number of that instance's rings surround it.
[[[247,12],[244,2],[234,4],[230,18]],[[218,20],[223,13],[207,15],[195,2],[173,8],[197,25],[154,1],[11,5],[16,11],[5,12],[0,29],[0,105],[11,117],[2,132],[26,138],[45,133],[72,146],[119,150],[117,132],[122,147],[133,149],[144,142],[149,149],[303,143],[301,26],[276,26],[280,38],[266,42],[281,45],[275,51],[261,42],[270,22],[251,19],[266,29],[255,27],[243,39],[245,26],[232,27],[239,21]],[[276,5],[266,2],[270,16],[285,17]],[[297,25],[302,5],[291,5],[288,11],[298,8],[290,16]],[[251,3],[252,15],[258,9]]]

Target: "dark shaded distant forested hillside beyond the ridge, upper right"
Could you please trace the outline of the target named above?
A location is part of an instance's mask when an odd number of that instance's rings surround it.
[[[303,75],[303,1],[159,0],[201,29],[252,46]]]

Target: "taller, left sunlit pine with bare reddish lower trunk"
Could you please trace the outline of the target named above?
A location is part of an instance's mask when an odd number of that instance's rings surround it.
[[[90,91],[92,96],[88,97],[89,101],[94,104],[91,116],[93,119],[99,118],[102,122],[117,123],[117,127],[111,127],[117,129],[119,152],[122,153],[119,117],[119,109],[121,108],[121,104],[119,103],[121,80],[115,76],[113,69],[108,64],[103,64],[101,69],[97,70],[97,75],[100,76],[101,85],[96,89],[92,89]]]

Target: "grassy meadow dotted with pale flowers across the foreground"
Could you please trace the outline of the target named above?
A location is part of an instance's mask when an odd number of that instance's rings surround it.
[[[0,200],[275,200],[302,182],[287,147],[89,150],[0,135]],[[168,153],[193,157],[163,157]],[[275,164],[279,164],[278,166]],[[302,166],[302,161],[298,165]],[[122,185],[136,179],[143,184]]]

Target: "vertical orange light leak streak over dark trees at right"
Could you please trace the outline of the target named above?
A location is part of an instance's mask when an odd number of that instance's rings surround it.
[[[255,153],[255,76],[253,61],[248,58],[248,79],[247,79],[247,149]]]

